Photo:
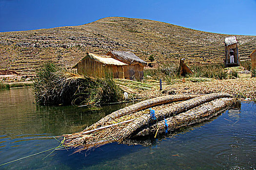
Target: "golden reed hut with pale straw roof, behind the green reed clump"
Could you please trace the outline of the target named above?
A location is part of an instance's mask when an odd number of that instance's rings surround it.
[[[87,53],[73,68],[77,68],[79,74],[92,77],[104,77],[106,73],[109,73],[114,78],[124,79],[127,66],[111,56]]]

